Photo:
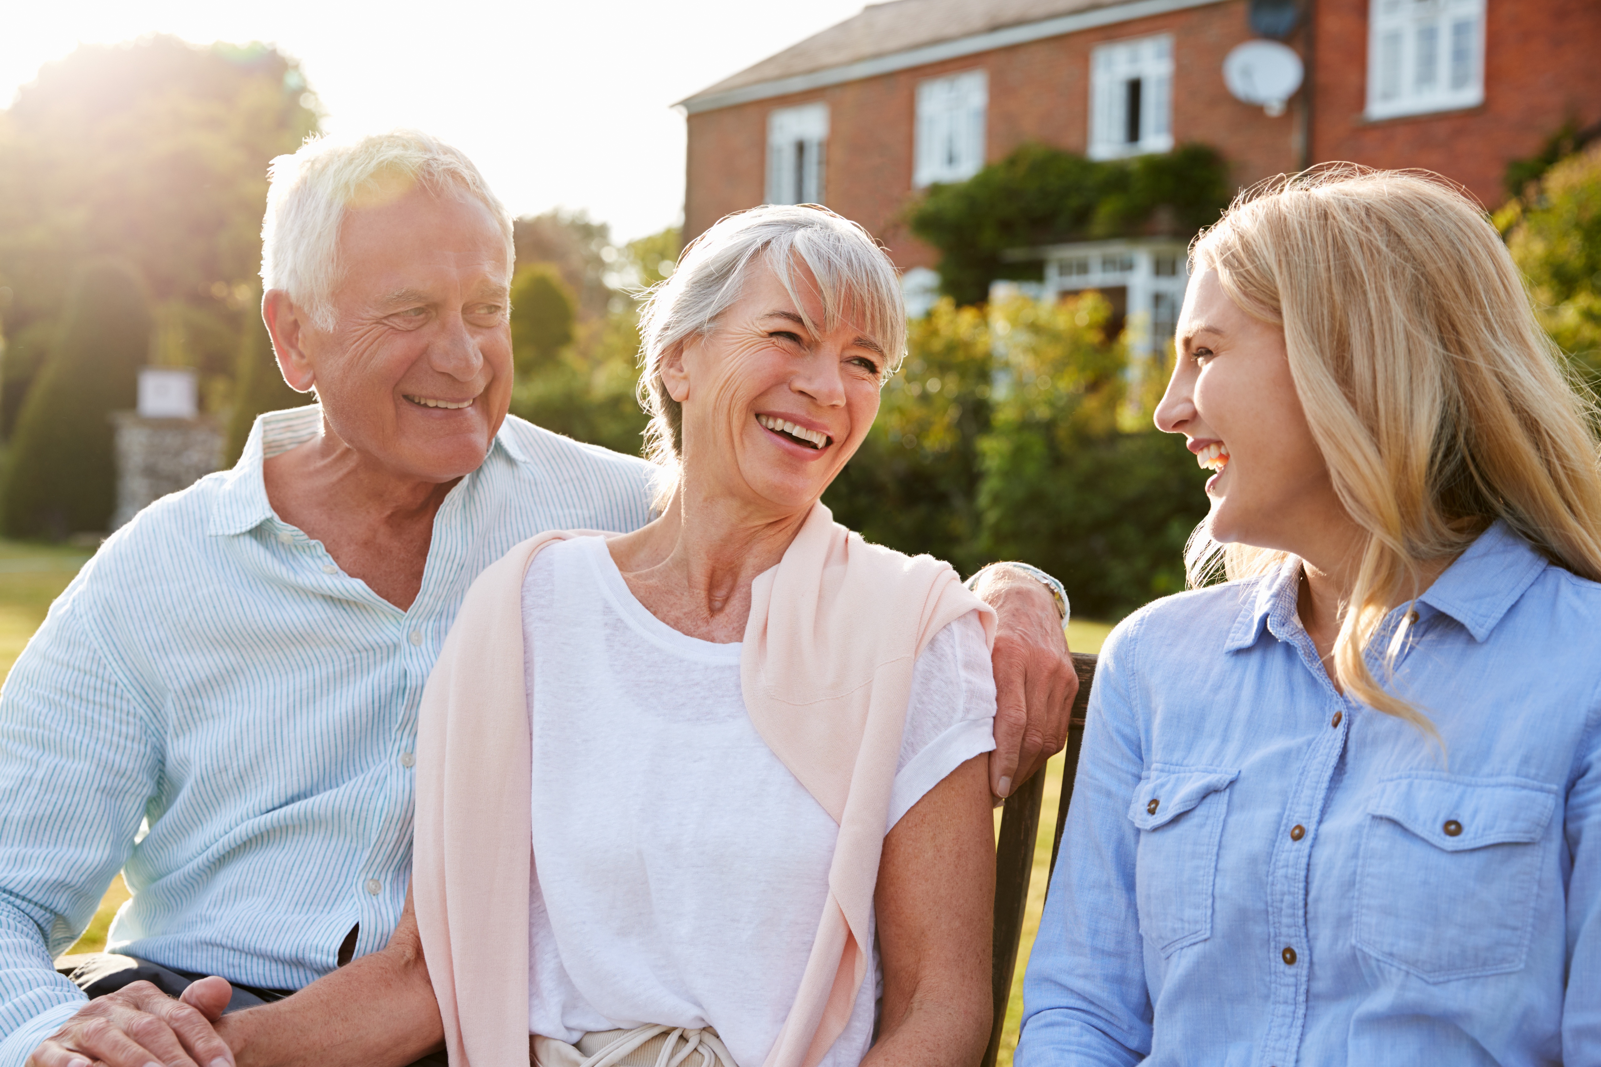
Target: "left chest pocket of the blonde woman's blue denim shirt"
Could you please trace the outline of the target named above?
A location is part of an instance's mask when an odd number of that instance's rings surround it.
[[[1212,883],[1239,771],[1153,763],[1129,805],[1140,830],[1134,865],[1140,933],[1164,955],[1212,936]]]

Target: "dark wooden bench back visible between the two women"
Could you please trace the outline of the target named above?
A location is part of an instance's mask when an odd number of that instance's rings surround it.
[[[1074,653],[1073,665],[1079,672],[1079,694],[1073,701],[1073,718],[1068,723],[1061,801],[1057,805],[1057,832],[1050,840],[1047,878],[1049,872],[1057,869],[1061,830],[1068,822],[1073,776],[1077,773],[1079,745],[1084,742],[1084,713],[1089,710],[1090,683],[1095,680],[1095,656]],[[1001,813],[1001,838],[996,841],[994,955],[991,963],[994,968],[991,995],[996,1014],[983,1067],[994,1067],[996,1056],[1001,1054],[1001,1032],[1005,1029],[1005,1009],[1012,1000],[1012,974],[1017,971],[1017,950],[1023,937],[1023,912],[1028,909],[1028,883],[1034,873],[1034,845],[1039,838],[1039,809],[1044,795],[1045,771],[1039,771],[1007,797]]]

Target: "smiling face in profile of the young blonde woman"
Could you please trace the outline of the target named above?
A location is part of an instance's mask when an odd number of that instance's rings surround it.
[[[1190,282],[1175,339],[1178,358],[1156,426],[1183,434],[1212,498],[1220,542],[1306,555],[1308,534],[1343,525],[1295,381],[1284,330],[1247,315],[1215,270]]]

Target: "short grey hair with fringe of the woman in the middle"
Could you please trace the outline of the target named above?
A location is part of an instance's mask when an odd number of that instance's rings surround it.
[[[813,334],[829,333],[849,320],[871,338],[889,358],[885,379],[906,355],[906,306],[900,275],[873,237],[828,208],[815,203],[767,205],[720,218],[696,237],[677,269],[645,299],[639,331],[644,338],[640,403],[650,413],[645,453],[663,469],[663,496],[676,482],[682,453],[684,411],[661,381],[661,363],[692,336],[709,336],[719,318],[740,299],[751,269],[772,267]],[[817,280],[823,322],[813,323],[799,285],[813,288],[799,270]]]

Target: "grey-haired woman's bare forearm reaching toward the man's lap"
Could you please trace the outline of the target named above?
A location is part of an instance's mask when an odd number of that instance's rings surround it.
[[[443,1046],[416,910],[389,944],[285,1000],[223,1016],[239,1067],[405,1067]]]

